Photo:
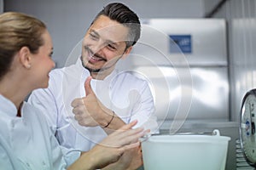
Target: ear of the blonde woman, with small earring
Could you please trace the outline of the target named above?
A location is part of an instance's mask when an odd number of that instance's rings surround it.
[[[31,53],[29,48],[27,47],[20,48],[20,51],[18,54],[19,54],[21,65],[23,65],[26,69],[30,69],[32,58],[31,58]]]

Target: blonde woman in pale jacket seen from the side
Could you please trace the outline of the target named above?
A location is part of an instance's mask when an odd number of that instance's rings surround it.
[[[23,100],[47,88],[53,47],[44,23],[15,12],[0,14],[0,168],[96,169],[118,161],[146,131],[120,128],[89,152],[67,150],[50,133],[44,116]]]

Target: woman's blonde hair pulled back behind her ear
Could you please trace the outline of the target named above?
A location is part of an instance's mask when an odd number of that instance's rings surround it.
[[[0,80],[9,71],[15,54],[22,47],[32,54],[44,45],[42,34],[46,26],[41,20],[30,15],[6,12],[0,14]]]

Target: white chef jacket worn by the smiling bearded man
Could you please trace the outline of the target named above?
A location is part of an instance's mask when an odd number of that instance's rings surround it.
[[[84,69],[78,59],[75,65],[55,69],[49,76],[49,87],[35,90],[28,102],[44,112],[61,145],[90,150],[107,134],[99,126],[80,126],[74,120],[71,106],[73,99],[85,96],[84,82],[90,72]],[[137,127],[156,131],[158,125],[154,116],[154,99],[148,82],[125,71],[113,71],[102,81],[92,79],[90,85],[97,99],[125,123],[137,120]]]

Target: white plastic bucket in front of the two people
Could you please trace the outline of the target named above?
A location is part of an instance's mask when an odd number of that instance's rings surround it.
[[[155,135],[142,142],[145,170],[224,170],[230,137]],[[214,132],[213,131],[213,132]]]

